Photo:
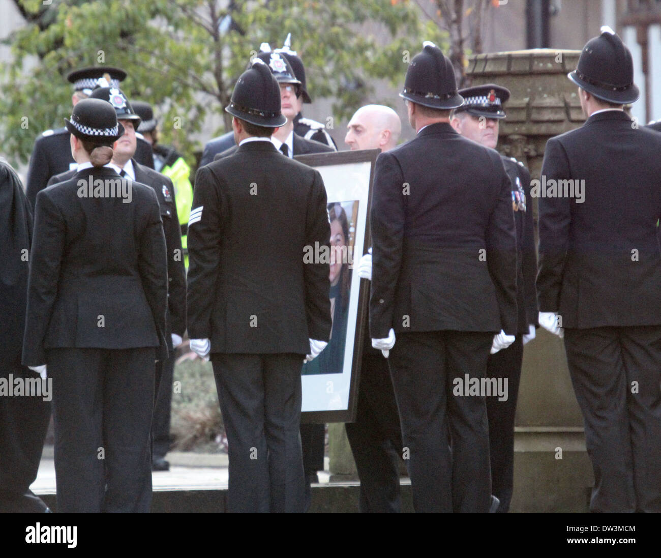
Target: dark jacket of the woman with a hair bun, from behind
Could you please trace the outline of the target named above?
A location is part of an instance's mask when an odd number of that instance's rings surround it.
[[[37,195],[23,364],[46,348],[159,346],[167,356],[167,262],[152,188],[132,182],[132,201],[86,198],[79,180],[120,180],[85,169]]]

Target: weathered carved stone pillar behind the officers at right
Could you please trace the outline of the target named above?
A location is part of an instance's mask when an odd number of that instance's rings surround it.
[[[578,89],[567,73],[578,50],[533,49],[471,58],[472,85],[497,83],[512,96],[498,150],[539,179],[546,141],[582,124]],[[533,199],[535,229],[537,200]],[[536,240],[536,239],[535,239]],[[512,511],[587,511],[593,476],[583,420],[561,339],[543,329],[524,350],[516,411]]]

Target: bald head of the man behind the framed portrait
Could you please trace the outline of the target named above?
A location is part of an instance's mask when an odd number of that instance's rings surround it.
[[[344,143],[352,151],[356,149],[381,149],[388,151],[397,145],[402,133],[402,123],[389,106],[366,104],[356,110],[346,126]]]

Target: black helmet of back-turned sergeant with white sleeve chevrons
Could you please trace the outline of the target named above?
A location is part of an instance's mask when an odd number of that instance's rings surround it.
[[[279,128],[287,122],[286,116],[280,112],[280,85],[266,63],[258,57],[239,77],[225,110],[255,126]]]

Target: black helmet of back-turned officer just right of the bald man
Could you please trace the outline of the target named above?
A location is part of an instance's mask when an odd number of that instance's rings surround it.
[[[449,110],[459,108],[463,97],[449,59],[433,42],[422,43],[422,52],[411,60],[400,97],[422,106]]]

